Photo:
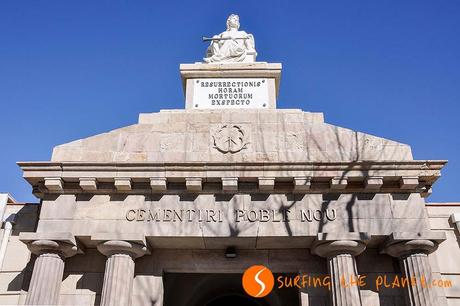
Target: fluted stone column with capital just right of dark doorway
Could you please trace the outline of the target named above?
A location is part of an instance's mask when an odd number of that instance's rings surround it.
[[[327,258],[333,306],[362,305],[355,256],[366,249],[366,240],[368,235],[365,233],[349,233],[340,237],[318,234],[312,253]]]

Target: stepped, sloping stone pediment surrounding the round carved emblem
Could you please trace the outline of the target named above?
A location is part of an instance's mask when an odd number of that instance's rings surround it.
[[[52,160],[197,162],[212,158],[215,161],[285,162],[412,159],[407,145],[326,124],[322,116],[283,109],[247,110],[245,113],[237,110],[171,110],[141,114],[139,124],[57,146]],[[246,125],[244,133],[250,139],[247,149],[230,155],[216,151],[209,143],[213,124]],[[243,158],[247,152],[255,154]]]

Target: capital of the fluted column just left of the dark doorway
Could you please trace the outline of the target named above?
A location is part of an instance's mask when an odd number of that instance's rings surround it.
[[[91,236],[91,240],[97,243],[98,251],[107,257],[126,254],[136,259],[150,254],[145,237],[139,234],[100,233]]]

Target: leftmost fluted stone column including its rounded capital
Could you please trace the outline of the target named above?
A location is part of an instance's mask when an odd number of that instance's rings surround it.
[[[29,250],[37,255],[27,292],[26,305],[58,305],[64,259],[77,253],[75,244],[35,240],[27,243]]]

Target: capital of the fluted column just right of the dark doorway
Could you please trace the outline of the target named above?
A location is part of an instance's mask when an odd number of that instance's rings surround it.
[[[339,254],[358,256],[366,249],[370,239],[367,233],[319,233],[312,245],[312,254],[331,257]]]

